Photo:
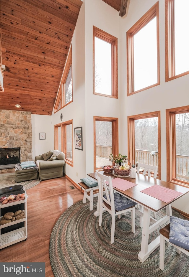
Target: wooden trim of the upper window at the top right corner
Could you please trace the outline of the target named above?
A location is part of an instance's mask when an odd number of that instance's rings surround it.
[[[165,0],[165,82],[187,74],[175,75],[175,0]]]

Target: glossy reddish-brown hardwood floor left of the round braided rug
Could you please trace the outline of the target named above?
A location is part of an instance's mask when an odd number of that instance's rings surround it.
[[[40,182],[27,190],[27,240],[0,250],[0,262],[45,262],[45,277],[53,277],[49,260],[50,235],[61,214],[83,199],[66,177]],[[88,200],[87,200],[88,201]]]

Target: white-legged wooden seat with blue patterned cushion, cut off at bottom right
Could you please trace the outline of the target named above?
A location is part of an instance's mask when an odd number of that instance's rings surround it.
[[[170,224],[159,230],[159,268],[164,270],[165,241],[177,249],[177,253],[189,256],[189,221],[177,217],[170,217]],[[174,243],[172,243],[174,242]],[[188,248],[188,249],[185,249]]]

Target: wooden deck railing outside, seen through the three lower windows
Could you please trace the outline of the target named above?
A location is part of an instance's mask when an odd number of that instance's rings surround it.
[[[96,145],[96,156],[106,158],[112,153],[112,146]],[[138,162],[150,164],[158,167],[158,152],[155,155],[150,154],[151,151],[135,149],[135,157]],[[189,180],[189,156],[177,155],[177,178]]]

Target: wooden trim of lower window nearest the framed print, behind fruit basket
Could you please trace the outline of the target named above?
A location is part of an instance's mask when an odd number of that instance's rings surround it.
[[[111,121],[112,122],[112,154],[119,154],[119,142],[118,142],[118,118],[114,117],[101,117],[94,116],[93,117],[93,126],[94,126],[94,172],[96,169],[100,169],[101,167],[96,168],[96,121]]]

